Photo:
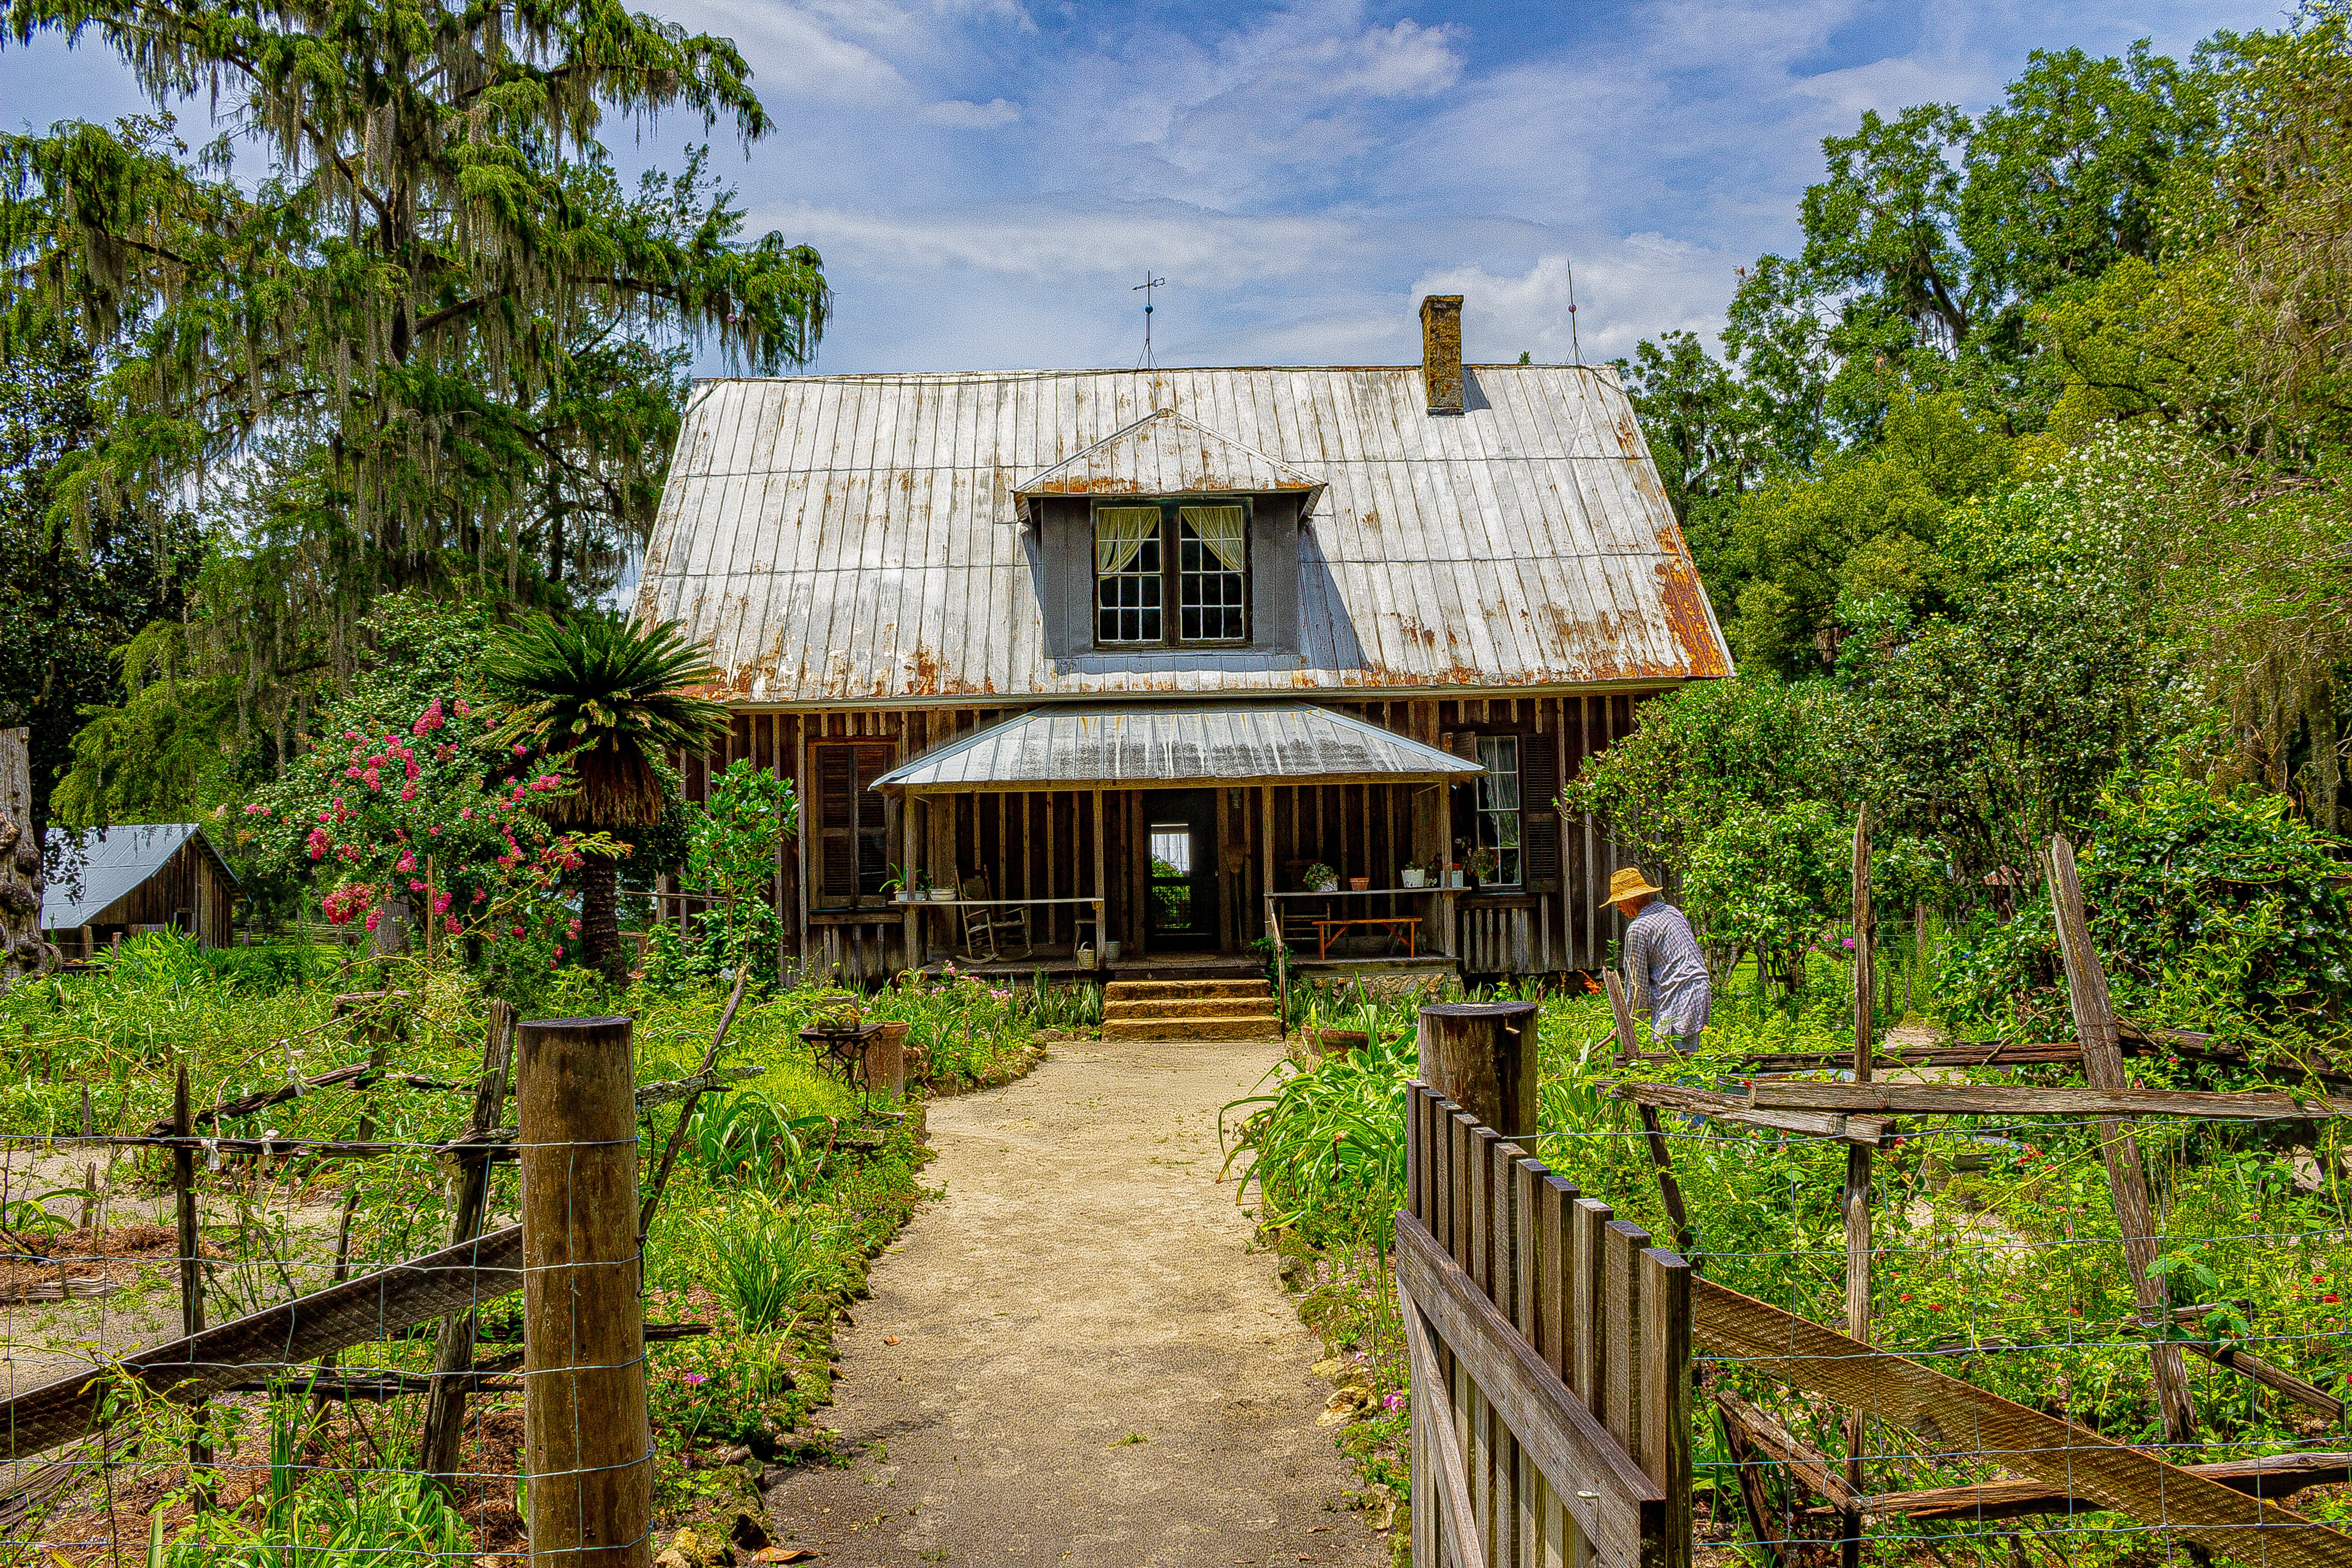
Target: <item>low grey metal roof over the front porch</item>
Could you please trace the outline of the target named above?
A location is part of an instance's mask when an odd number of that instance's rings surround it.
[[[1091,790],[1268,778],[1468,778],[1479,764],[1343,712],[1247,703],[1035,708],[898,764],[875,790]]]

